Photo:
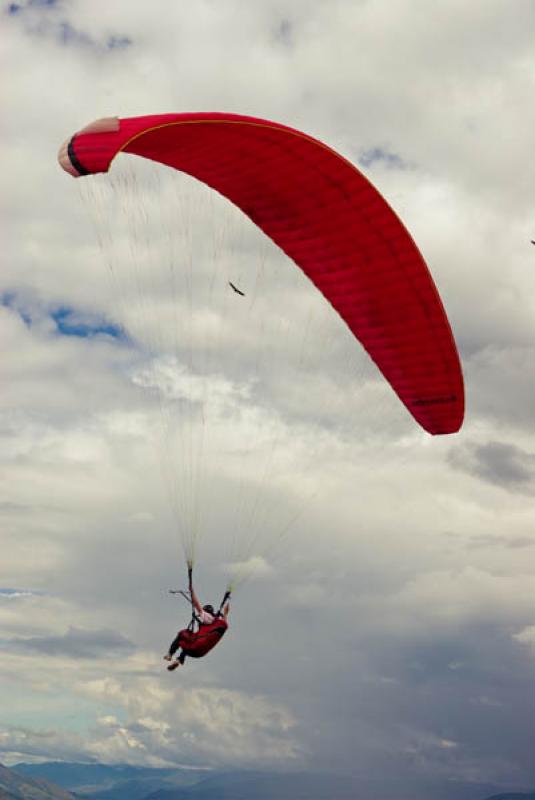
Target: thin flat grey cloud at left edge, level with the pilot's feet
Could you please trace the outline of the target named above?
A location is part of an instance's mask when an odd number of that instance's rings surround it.
[[[68,658],[103,658],[128,654],[134,645],[120,633],[106,629],[87,631],[69,628],[63,636],[32,636],[4,640],[5,646],[15,650],[30,650],[49,656]]]

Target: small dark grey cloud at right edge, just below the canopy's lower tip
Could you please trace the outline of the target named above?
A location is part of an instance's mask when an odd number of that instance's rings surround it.
[[[466,443],[452,449],[449,463],[509,491],[535,492],[535,454],[505,442]]]

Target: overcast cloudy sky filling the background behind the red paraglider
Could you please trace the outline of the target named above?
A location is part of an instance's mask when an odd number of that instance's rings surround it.
[[[533,787],[535,5],[21,0],[1,14],[0,762]],[[142,165],[134,180],[118,164],[108,196],[107,178],[81,188],[57,164],[94,119],[182,111],[276,120],[362,169],[447,309],[459,434],[417,429],[223,202]],[[140,253],[135,306],[132,283],[112,284]],[[176,306],[143,272],[170,253],[212,286],[198,329],[179,294],[174,356]],[[196,378],[184,341],[207,354]],[[177,517],[201,436],[200,516]],[[229,561],[257,569],[218,649],[169,675],[188,514],[203,601]]]

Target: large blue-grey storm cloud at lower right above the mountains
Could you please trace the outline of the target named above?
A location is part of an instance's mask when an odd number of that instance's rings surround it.
[[[384,771],[386,759],[388,774],[400,777],[412,771],[505,778],[509,786],[535,780],[527,768],[531,720],[524,712],[534,689],[532,662],[507,626],[488,620],[391,637],[378,628],[376,637],[360,638],[345,662],[336,656],[336,642],[323,652],[336,692],[322,690],[316,669],[302,677],[306,692],[297,701],[308,695],[300,709],[303,736],[332,765],[340,759],[342,768],[353,752],[355,768],[370,777]],[[287,671],[291,681],[293,670]],[[324,722],[312,733],[314,719]]]

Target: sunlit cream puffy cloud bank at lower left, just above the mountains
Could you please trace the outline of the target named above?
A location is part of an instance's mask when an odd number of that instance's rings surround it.
[[[80,682],[79,690],[118,713],[101,716],[92,729],[69,739],[62,732],[8,726],[0,733],[2,757],[11,762],[10,753],[26,758],[40,752],[53,759],[64,752],[70,760],[108,764],[256,768],[301,759],[294,719],[280,703],[260,696],[190,687],[177,698],[174,689],[135,673]]]

